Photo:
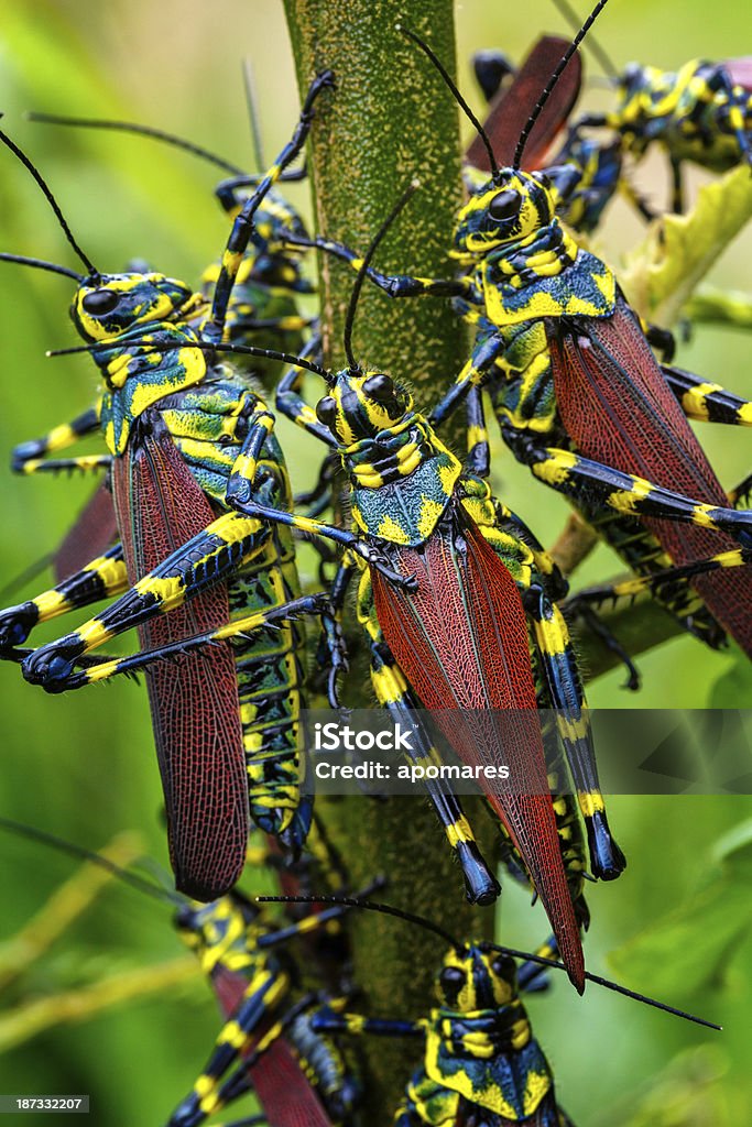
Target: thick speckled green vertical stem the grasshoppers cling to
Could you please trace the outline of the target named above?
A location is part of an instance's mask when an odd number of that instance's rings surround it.
[[[337,81],[333,96],[320,100],[311,134],[308,167],[318,231],[364,251],[417,176],[421,189],[379,248],[375,265],[451,277],[448,232],[461,197],[457,106],[423,54],[395,28],[399,21],[428,38],[453,70],[451,0],[285,0],[285,8],[301,92],[325,68],[335,72]],[[353,279],[347,266],[329,258],[320,263],[328,364],[343,360],[344,314]],[[445,301],[390,301],[366,284],[354,349],[363,363],[415,383],[419,402],[428,406],[459,371],[467,343]],[[350,703],[356,685],[351,674]],[[371,700],[370,687],[364,687],[361,702]],[[471,909],[465,903],[459,869],[424,802],[353,798],[330,800],[321,808],[355,885],[381,871],[389,879],[383,897],[389,903],[424,913],[459,935],[478,939],[490,933],[493,911]],[[488,837],[490,822],[484,811],[475,801],[467,808],[480,827],[485,824]],[[413,1018],[427,1012],[432,979],[444,953],[439,940],[398,921],[362,913],[354,923],[354,948],[365,995],[359,1009]],[[383,1125],[421,1047],[386,1040],[362,1047],[368,1065],[366,1121]]]

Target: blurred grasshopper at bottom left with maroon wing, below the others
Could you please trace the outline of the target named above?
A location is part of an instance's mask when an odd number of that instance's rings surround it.
[[[312,1028],[319,1005],[337,1011],[344,999],[326,991],[304,993],[298,965],[280,952],[291,941],[331,926],[348,912],[346,905],[281,924],[237,889],[214,903],[198,904],[169,894],[106,855],[32,826],[0,818],[0,828],[90,861],[138,891],[177,906],[177,933],[196,956],[224,1023],[206,1067],[170,1125],[201,1124],[212,1110],[255,1092],[265,1112],[263,1121],[274,1127],[348,1127],[360,1083],[331,1038]],[[377,880],[369,890],[382,884]],[[221,1079],[236,1063],[237,1071],[220,1095]]]

